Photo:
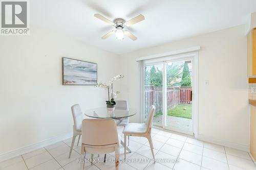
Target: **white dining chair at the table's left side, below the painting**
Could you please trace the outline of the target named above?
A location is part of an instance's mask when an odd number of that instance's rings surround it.
[[[72,138],[71,148],[70,148],[70,152],[69,152],[69,158],[71,157],[71,153],[72,153],[74,143],[75,143],[77,136],[78,136],[77,145],[79,143],[79,140],[81,137],[81,128],[82,128],[82,119],[83,119],[82,111],[78,104],[72,106],[71,110],[72,110],[72,115],[73,115],[73,120],[74,120],[74,126],[73,126],[73,138]]]

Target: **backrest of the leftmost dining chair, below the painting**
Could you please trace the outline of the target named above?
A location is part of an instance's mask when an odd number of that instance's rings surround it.
[[[83,119],[81,108],[78,104],[76,104],[71,107],[71,110],[72,110],[72,115],[74,119],[74,128],[75,130],[80,131],[82,127],[82,119]]]

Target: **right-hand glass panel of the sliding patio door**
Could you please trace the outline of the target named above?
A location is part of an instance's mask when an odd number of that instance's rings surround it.
[[[193,67],[191,59],[166,61],[163,128],[186,134],[192,129]]]

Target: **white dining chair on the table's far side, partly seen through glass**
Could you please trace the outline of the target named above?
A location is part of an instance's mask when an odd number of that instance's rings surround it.
[[[128,108],[128,102],[127,101],[115,101],[116,105],[115,105],[115,109],[119,109],[119,110],[129,110]],[[127,124],[129,124],[129,117],[125,117],[125,118],[121,118],[121,119],[115,119],[118,126],[126,126]],[[128,145],[130,145],[130,136],[128,136]]]

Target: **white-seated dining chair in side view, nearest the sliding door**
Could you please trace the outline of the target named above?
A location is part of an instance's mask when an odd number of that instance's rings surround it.
[[[153,116],[155,113],[155,106],[151,106],[150,113],[147,116],[146,123],[138,124],[138,123],[129,123],[123,129],[124,134],[124,159],[126,158],[126,136],[140,136],[146,137],[148,142],[150,143],[151,152],[153,155],[153,159],[155,162],[155,155],[153,151],[153,142],[151,138],[151,128],[153,122]]]

